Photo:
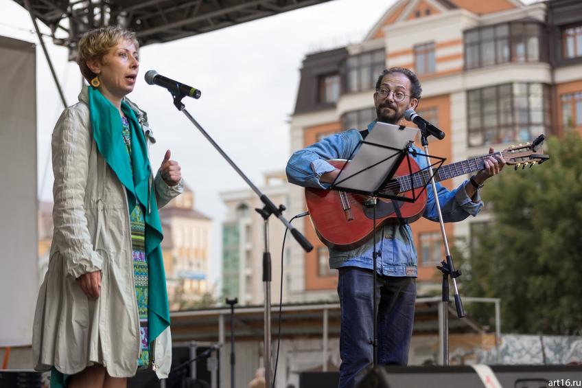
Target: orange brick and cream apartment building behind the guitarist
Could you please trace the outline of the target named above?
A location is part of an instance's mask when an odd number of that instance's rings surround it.
[[[290,151],[375,119],[377,76],[388,67],[408,67],[421,80],[417,112],[443,129],[430,153],[445,163],[485,155],[537,135],[582,128],[582,3],[552,0],[399,0],[380,17],[362,42],[303,60],[290,123]],[[413,126],[413,124],[410,124]],[[511,173],[511,172],[510,172]],[[441,182],[456,187],[467,176]],[[288,214],[305,209],[303,189],[290,187]],[[468,247],[472,231],[487,221],[446,225],[450,244]],[[305,254],[290,242],[289,295],[296,301],[332,299],[336,271],[311,222],[305,236],[316,247]],[[419,253],[419,295],[439,289],[435,269],[443,258],[439,225],[412,224]],[[295,297],[292,297],[295,295]]]

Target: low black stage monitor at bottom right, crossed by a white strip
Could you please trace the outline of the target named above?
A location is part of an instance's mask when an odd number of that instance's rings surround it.
[[[582,387],[580,365],[491,365],[503,388]],[[478,388],[485,385],[475,369],[397,367],[382,365],[366,375],[358,388]]]

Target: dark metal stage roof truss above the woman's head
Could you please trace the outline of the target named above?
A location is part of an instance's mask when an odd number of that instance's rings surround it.
[[[75,58],[83,32],[121,25],[140,44],[170,42],[329,0],[14,0],[51,30],[53,43]]]

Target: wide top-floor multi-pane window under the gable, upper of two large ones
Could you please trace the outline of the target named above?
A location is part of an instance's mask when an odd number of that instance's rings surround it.
[[[538,23],[504,23],[467,30],[463,39],[465,69],[546,60],[542,36]]]

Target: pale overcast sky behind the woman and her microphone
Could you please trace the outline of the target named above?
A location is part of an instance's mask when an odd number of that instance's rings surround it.
[[[172,150],[172,159],[181,163],[183,177],[195,192],[196,209],[213,219],[212,282],[220,277],[220,225],[226,209],[218,193],[246,185],[176,110],[170,93],[146,84],[143,74],[155,69],[200,89],[200,100],[183,100],[186,109],[260,187],[263,172],[285,168],[290,155],[288,120],[305,55],[361,41],[393,3],[334,0],[141,49],[140,76],[129,97],[148,111],[157,139],[151,148],[152,167],[159,168],[165,150]],[[29,14],[10,0],[0,0],[0,9],[1,36],[37,43],[38,196],[51,200],[50,136],[63,107]],[[78,66],[67,62],[67,49],[49,38],[45,43],[67,104],[74,104],[81,84]]]

